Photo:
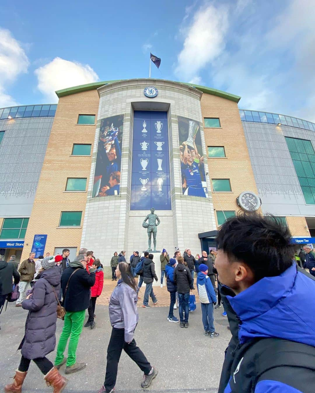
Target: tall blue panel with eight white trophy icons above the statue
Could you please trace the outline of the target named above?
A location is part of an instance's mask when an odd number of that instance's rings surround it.
[[[172,210],[167,112],[133,113],[130,210]]]

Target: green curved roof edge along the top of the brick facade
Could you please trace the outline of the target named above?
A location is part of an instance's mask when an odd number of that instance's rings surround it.
[[[139,78],[139,79],[147,79],[147,78]],[[80,84],[79,86],[73,86],[73,87],[69,87],[67,89],[57,90],[56,94],[57,94],[58,98],[60,98],[60,97],[64,97],[65,95],[85,92],[87,90],[94,90],[94,89],[96,90],[97,88],[104,86],[104,84],[119,82],[119,81],[123,81],[123,80],[128,80],[128,79],[115,79],[113,81],[102,81],[102,82]],[[154,78],[154,80],[158,81],[159,79]],[[166,79],[161,79],[161,80],[166,80]],[[172,82],[176,82],[176,81],[172,81]],[[226,99],[229,99],[230,101],[234,101],[236,103],[238,103],[239,100],[241,99],[241,97],[239,97],[238,95],[226,93],[226,92],[223,92],[222,90],[213,89],[211,87],[201,86],[199,84],[186,83],[186,82],[178,82],[178,83],[182,83],[182,84],[186,84],[187,86],[195,87],[196,89],[202,91],[203,93],[217,95],[218,97],[226,98]]]

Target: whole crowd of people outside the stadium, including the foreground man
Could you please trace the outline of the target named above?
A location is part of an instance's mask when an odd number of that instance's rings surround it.
[[[303,250],[296,252],[288,228],[274,217],[253,213],[226,220],[217,235],[217,251],[211,250],[209,255],[203,251],[197,259],[189,249],[183,256],[176,249],[171,258],[163,249],[161,287],[166,277],[170,293],[168,321],[189,327],[189,294],[195,288],[195,273],[204,334],[210,338],[219,336],[213,309],[223,303],[232,338],[225,351],[219,393],[313,391],[315,302],[308,301],[305,312],[305,301],[315,290],[315,252],[308,245]],[[122,349],[143,371],[141,387],[148,388],[158,375],[134,339],[143,283],[143,307],[150,307],[149,297],[153,304],[158,303],[152,287],[153,280],[158,281],[153,254],[146,252],[140,257],[135,251],[128,261],[125,254],[115,252],[111,258],[112,280],[117,280],[117,286],[108,298],[112,331],[105,380],[99,393],[114,392]],[[30,253],[18,270],[14,262],[12,257],[9,262],[0,261],[0,305],[12,291],[14,281],[21,288],[16,307],[28,310],[28,316],[19,346],[20,364],[13,382],[4,390],[21,392],[33,360],[46,384],[53,387],[54,393],[61,392],[68,382],[59,372],[61,366],[65,365],[66,375],[86,367],[77,361],[76,350],[86,310],[89,318],[84,326],[93,329],[96,324],[95,303],[104,281],[102,264],[86,248],[72,262],[68,249],[62,255],[42,255],[36,262]],[[176,301],[179,320],[174,316]],[[65,309],[64,325],[53,364],[46,356],[56,346],[56,320],[62,314],[61,306]]]

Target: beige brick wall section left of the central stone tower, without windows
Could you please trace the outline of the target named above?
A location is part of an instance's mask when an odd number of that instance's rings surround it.
[[[86,192],[64,192],[67,177],[89,179],[89,156],[70,156],[73,143],[93,143],[99,97],[96,90],[61,97],[50,133],[46,155],[39,178],[33,209],[25,235],[22,260],[31,251],[35,234],[48,234],[45,253],[55,247],[80,247],[80,228],[57,228],[61,211],[82,211],[83,224]],[[95,114],[95,125],[77,125],[79,114]]]

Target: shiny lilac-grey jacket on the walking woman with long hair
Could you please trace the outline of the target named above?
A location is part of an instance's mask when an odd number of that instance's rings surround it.
[[[125,329],[125,342],[133,340],[133,332],[139,320],[137,292],[120,279],[109,300],[111,326]]]

